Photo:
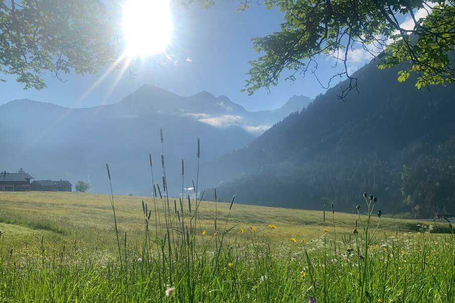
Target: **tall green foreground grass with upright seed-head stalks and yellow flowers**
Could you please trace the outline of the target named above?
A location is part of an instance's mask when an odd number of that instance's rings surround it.
[[[44,237],[34,255],[23,256],[0,234],[0,302],[455,301],[453,231],[378,235],[382,212],[376,215],[374,209],[380,202],[366,193],[349,237],[337,237],[332,204],[331,230],[325,226],[324,206],[324,230],[318,238],[283,238],[274,245],[269,238],[281,233],[281,226],[270,224],[266,233],[257,233],[254,226],[242,228],[231,222],[235,195],[225,215],[218,216],[215,189],[213,232],[207,232],[199,219],[204,196],[198,193],[199,172],[194,198],[188,195],[184,201],[183,160],[182,197],[178,204],[170,202],[163,129],[160,135],[162,184],[155,182],[149,154],[154,205],[145,201],[137,205],[142,239],[129,240],[117,220],[111,180],[115,176],[106,165],[118,256],[100,258],[96,250],[87,251],[77,241],[52,250]],[[196,155],[199,163],[199,139]]]

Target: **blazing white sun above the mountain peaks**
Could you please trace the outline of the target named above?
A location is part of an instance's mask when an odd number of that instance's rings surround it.
[[[122,28],[126,55],[146,57],[165,51],[173,30],[169,0],[126,0]]]

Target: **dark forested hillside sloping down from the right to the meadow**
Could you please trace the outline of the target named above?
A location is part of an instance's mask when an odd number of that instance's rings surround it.
[[[397,82],[397,70],[372,61],[354,74],[359,93],[346,102],[330,89],[223,157],[213,169],[226,179],[220,197],[353,211],[366,191],[384,211],[455,211],[455,86],[417,90]]]

